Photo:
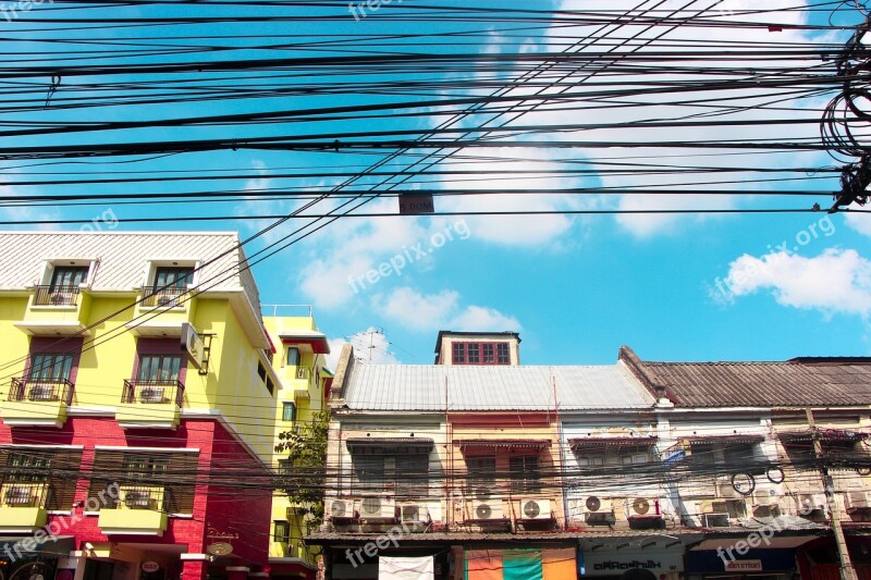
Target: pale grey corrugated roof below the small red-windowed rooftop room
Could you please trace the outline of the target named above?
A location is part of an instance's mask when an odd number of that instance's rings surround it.
[[[554,387],[555,385],[555,387]],[[359,410],[650,408],[654,399],[622,365],[501,367],[354,365],[345,404]]]

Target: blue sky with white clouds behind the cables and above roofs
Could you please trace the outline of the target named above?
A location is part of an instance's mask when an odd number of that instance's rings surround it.
[[[439,2],[433,2],[439,3]],[[464,5],[498,5],[494,2],[469,2]],[[550,8],[573,10],[588,8],[596,2],[565,0],[552,2]],[[637,2],[599,2],[609,10],[628,9]],[[666,2],[677,5],[677,2]],[[723,21],[729,18],[775,20],[785,24],[824,24],[830,14],[825,12],[808,16],[806,12],[783,12],[773,16],[743,14],[753,8],[753,2],[724,0],[709,2],[716,5],[709,17]],[[406,4],[407,5],[407,4]],[[766,8],[798,7],[802,2],[769,2]],[[542,9],[545,8],[542,3]],[[46,4],[45,9],[49,9]],[[54,4],[52,11],[62,10]],[[36,11],[37,9],[34,9]],[[40,8],[39,10],[42,10]],[[121,7],[113,15],[125,16],[164,15],[165,7]],[[180,14],[188,14],[181,10]],[[236,9],[234,9],[236,10]],[[266,9],[263,9],[266,10]],[[320,13],[311,9],[311,13]],[[324,9],[326,10],[326,9]],[[444,40],[430,50],[439,52],[478,53],[535,53],[560,48],[557,37],[585,38],[588,27],[527,26],[524,30],[508,32],[507,25],[498,23],[436,24],[391,21],[384,14],[402,11],[398,3],[382,5],[359,22],[351,15],[343,21],[292,25],[265,25],[258,34],[270,32],[306,35],[311,39],[319,35],[355,34],[365,27],[367,34],[437,33],[447,30],[478,30],[479,34],[458,44],[445,45]],[[699,12],[702,3],[698,2]],[[124,11],[124,12],[122,12]],[[161,12],[163,11],[163,12]],[[332,13],[341,12],[340,9]],[[46,12],[48,13],[48,12]],[[108,13],[108,12],[107,12]],[[278,12],[277,12],[278,13]],[[381,18],[381,20],[379,20]],[[842,10],[833,17],[835,24],[854,24],[860,18],[855,10]],[[47,33],[25,32],[23,22],[2,23],[5,33],[17,34],[21,46],[33,46],[37,50],[47,46],[39,42]],[[15,28],[17,26],[17,28]],[[514,25],[516,26],[516,24]],[[161,30],[149,28],[121,32],[119,38],[134,34],[158,36],[172,34],[177,28]],[[194,37],[205,27],[185,28]],[[212,25],[213,34],[253,34],[248,25]],[[652,36],[640,28],[635,30]],[[657,34],[662,29],[658,29]],[[71,33],[87,37],[89,33]],[[745,41],[783,42],[844,42],[847,32],[784,29],[741,30]],[[126,36],[125,36],[126,35]],[[658,47],[675,41],[731,39],[734,30],[728,28],[678,28],[657,39]],[[68,40],[70,37],[66,37]],[[249,40],[238,40],[245,42]],[[180,42],[196,44],[181,38]],[[253,40],[252,40],[253,42]],[[266,42],[266,40],[263,40]],[[387,50],[384,46],[373,49]],[[650,47],[647,47],[650,49]],[[621,49],[617,49],[621,50]],[[642,49],[643,50],[643,49]],[[712,49],[713,50],[713,49]],[[245,58],[262,57],[263,51],[252,49]],[[281,55],[330,55],[340,54],[338,49],[295,49],[292,52],[269,52]],[[183,61],[188,57],[173,57]],[[204,60],[221,58],[220,53],[198,55]],[[169,59],[169,58],[167,58]],[[148,62],[143,59],[140,62]],[[724,64],[720,64],[721,66]],[[434,74],[434,73],[433,73]],[[406,75],[405,81],[432,78],[433,74]],[[468,78],[486,73],[469,72]],[[517,73],[519,74],[519,72]],[[581,82],[584,72],[567,78],[575,79],[572,88],[590,88],[602,75]],[[671,73],[648,75],[651,78],[668,79]],[[459,75],[458,81],[462,81]],[[336,74],[335,82],[360,81],[364,75]],[[510,81],[512,74],[501,73],[494,78]],[[131,76],[133,78],[133,76]],[[380,78],[379,75],[370,78]],[[552,77],[550,77],[552,78]],[[170,77],[156,76],[155,81]],[[63,81],[54,99],[64,95],[68,87],[76,83],[83,86],[98,78],[81,77]],[[256,84],[258,81],[248,79]],[[305,83],[304,78],[287,81]],[[235,78],[229,83],[241,83]],[[463,90],[462,87],[445,90],[444,98],[479,95],[483,89]],[[528,87],[515,91],[531,92]],[[551,91],[555,91],[553,88]],[[516,92],[515,92],[516,94]],[[722,91],[713,98],[726,99],[736,91]],[[700,95],[699,98],[702,96]],[[704,98],[712,98],[704,94]],[[761,108],[770,94],[744,94],[744,111],[733,111],[729,119],[777,119],[801,116],[819,119],[820,109],[831,95],[789,99],[784,96],[783,109]],[[395,97],[393,97],[395,99]],[[404,100],[413,100],[406,97]],[[694,97],[695,98],[695,97]],[[421,100],[424,100],[421,98]],[[685,119],[696,114],[692,103],[673,103],[658,100],[651,95],[627,98],[633,106],[622,108],[593,108],[581,111],[561,111],[559,108],[531,110],[511,120],[512,126],[557,123],[614,123],[623,121],[625,126],[610,129],[588,129],[582,133],[552,133],[542,139],[556,144],[560,140],[614,139],[643,143],[645,139],[708,140],[735,136],[736,138],[776,136],[778,138],[817,137],[818,127],[808,125],[772,125],[739,127],[680,127],[639,129],[634,122],[651,119]],[[56,101],[57,102],[57,101]],[[155,106],[115,107],[69,111],[45,111],[26,115],[39,121],[127,121],[164,119],[197,114],[229,114],[250,110],[303,109],[309,107],[334,107],[390,102],[388,97],[355,95],[317,95],[283,99],[266,99],[256,103],[248,101],[184,103],[168,108]],[[723,102],[726,102],[725,100]],[[786,110],[787,107],[792,110]],[[431,128],[439,121],[424,113],[438,112],[428,108],[417,116],[392,116],[377,121],[355,121],[353,125],[340,121],[319,123],[304,122],[290,126],[269,127],[187,127],[184,129],[142,128],[123,135],[97,133],[78,137],[26,137],[21,144],[36,143],[100,143],[137,138],[179,138],[180,136],[203,138],[226,138],[232,135],[244,141],[246,136],[269,135],[274,132],[294,131],[305,133],[329,133],[349,131],[420,131]],[[72,115],[72,116],[71,116]],[[9,119],[9,116],[8,116]],[[475,128],[487,124],[496,126],[504,118],[489,113],[470,115],[457,127]],[[503,137],[503,144],[514,137]],[[522,138],[522,137],[518,137]],[[817,137],[818,138],[818,137]],[[474,180],[458,182],[443,174],[413,180],[409,188],[433,188],[450,190],[462,187],[470,190],[487,190],[490,195],[437,196],[438,211],[486,211],[486,210],[600,210],[600,209],[761,209],[772,207],[809,208],[814,201],[827,207],[831,197],[817,198],[769,198],[760,192],[778,188],[813,189],[820,192],[838,188],[833,173],[807,172],[798,174],[798,181],[750,183],[759,174],[729,174],[737,183],[709,183],[704,187],[709,195],[685,195],[682,190],[692,187],[698,181],[722,181],[717,174],[629,174],[613,175],[603,170],[613,163],[650,163],[696,166],[704,164],[715,168],[815,168],[833,169],[841,164],[824,152],[764,153],[747,152],[721,155],[715,149],[663,149],[637,147],[633,149],[566,149],[561,147],[517,149],[493,147],[477,150],[459,149],[443,159],[436,168],[461,170],[473,168],[480,171]],[[478,156],[478,157],[473,157]],[[667,156],[667,157],[664,157]],[[329,192],[339,180],[334,177],[305,181],[280,180],[277,172],[286,168],[339,171],[342,168],[365,169],[384,153],[359,155],[349,151],[257,151],[241,147],[236,151],[225,150],[210,153],[186,153],[151,160],[124,160],[109,163],[89,160],[85,163],[56,164],[39,169],[47,172],[72,172],[79,177],[106,176],[108,171],[130,172],[131,177],[163,175],[172,177],[181,171],[196,171],[217,175],[220,171],[240,170],[249,173],[246,180],[216,180],[206,182],[214,189],[244,188],[248,192],[269,187],[305,186],[316,192]],[[487,157],[487,159],[481,159]],[[415,166],[412,156],[396,158],[392,166]],[[112,161],[112,160],[110,160]],[[119,161],[119,160],[114,160]],[[555,174],[555,169],[584,169],[587,174]],[[37,171],[33,163],[5,162],[8,180],[23,178],[24,174]],[[514,173],[500,174],[500,170]],[[796,173],[775,174],[780,177],[796,177]],[[14,177],[13,177],[14,176]],[[770,175],[764,175],[769,177]],[[373,178],[357,182],[349,190],[360,192],[376,185]],[[70,185],[63,193],[119,193],[131,199],[136,194],[186,192],[203,188],[204,184],[169,181],[159,183],[133,183],[115,185]],[[512,189],[550,187],[613,187],[611,195],[518,195]],[[662,195],[631,195],[633,187],[662,187],[670,193]],[[7,186],[20,195],[45,195],[60,193],[60,186]],[[725,194],[737,189],[741,194]],[[755,195],[756,194],[756,195]],[[187,206],[164,207],[155,205],[100,203],[65,208],[4,208],[7,219],[77,219],[95,220],[93,227],[103,231],[148,229],[188,229],[180,224],[115,224],[113,218],[143,215],[258,215],[284,214],[299,207],[295,200],[255,200],[233,202],[198,202]],[[326,200],[316,212],[336,207],[335,200]],[[360,211],[396,212],[396,199],[377,199]],[[255,233],[268,222],[226,219],[213,222],[189,222],[194,230],[238,230],[243,236]],[[280,240],[289,234],[299,220],[282,225],[250,244],[249,255]],[[302,223],[305,223],[303,221]],[[69,226],[75,230],[77,226]],[[377,348],[373,359],[401,361],[404,363],[429,363],[433,359],[433,346],[439,330],[455,331],[517,331],[523,340],[522,361],[531,365],[600,365],[616,359],[617,348],[629,345],[643,359],[651,360],[782,360],[794,356],[855,356],[871,354],[871,219],[868,214],[837,213],[763,213],[763,214],[599,214],[599,215],[512,215],[512,217],[390,217],[390,218],[342,218],[318,233],[284,249],[279,255],[254,267],[261,299],[265,304],[312,304],[320,329],[333,342],[334,353],[341,345],[352,341],[368,345],[367,331],[383,331],[372,337]],[[366,348],[361,354],[368,357]]]

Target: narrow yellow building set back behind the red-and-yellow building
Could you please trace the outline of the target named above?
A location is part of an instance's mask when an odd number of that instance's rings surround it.
[[[268,316],[270,313],[272,316]],[[279,434],[310,424],[326,408],[332,383],[324,355],[330,354],[327,336],[318,331],[310,306],[266,306],[263,319],[272,341],[272,366],[279,377],[273,444]],[[278,473],[291,471],[286,453],[275,453]],[[272,536],[269,547],[270,576],[273,578],[315,578],[316,554],[304,544],[305,517],[299,515],[280,490],[272,499]]]

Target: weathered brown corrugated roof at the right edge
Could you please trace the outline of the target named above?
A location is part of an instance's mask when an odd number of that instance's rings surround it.
[[[647,362],[640,370],[678,407],[871,404],[871,365]]]

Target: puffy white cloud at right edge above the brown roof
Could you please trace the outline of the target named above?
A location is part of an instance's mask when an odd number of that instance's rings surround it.
[[[732,262],[726,282],[735,296],[769,291],[783,306],[826,314],[871,313],[871,261],[852,249],[827,249],[815,258],[785,251],[744,255]]]

